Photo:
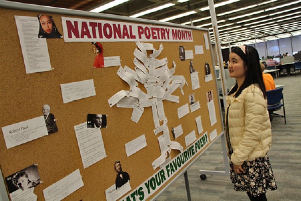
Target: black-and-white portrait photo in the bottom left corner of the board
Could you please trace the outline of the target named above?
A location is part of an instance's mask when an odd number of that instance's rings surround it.
[[[41,182],[38,166],[33,164],[5,178],[9,193],[25,191]]]

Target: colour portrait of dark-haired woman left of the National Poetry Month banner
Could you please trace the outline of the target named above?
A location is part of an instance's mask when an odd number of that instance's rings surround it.
[[[52,16],[38,15],[39,19],[39,38],[63,38],[56,27]]]

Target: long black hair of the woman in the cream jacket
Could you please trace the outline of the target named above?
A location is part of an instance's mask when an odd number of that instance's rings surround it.
[[[240,47],[235,47],[231,52],[240,56],[240,58],[245,62],[247,66],[245,80],[238,88],[238,84],[234,85],[234,87],[230,90],[228,95],[231,95],[236,92],[234,97],[238,97],[243,89],[247,88],[251,84],[258,84],[261,89],[264,98],[266,99],[266,90],[262,78],[262,72],[260,68],[259,54],[255,48],[252,46],[245,46],[245,53],[242,51]],[[238,90],[237,90],[238,89]]]

